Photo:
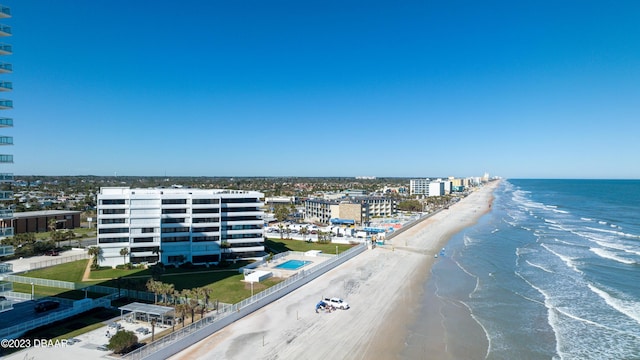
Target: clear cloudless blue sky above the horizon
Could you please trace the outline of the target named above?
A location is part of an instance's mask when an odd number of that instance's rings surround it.
[[[638,1],[3,5],[17,175],[640,178]]]

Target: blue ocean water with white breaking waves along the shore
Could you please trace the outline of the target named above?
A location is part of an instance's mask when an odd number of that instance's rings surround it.
[[[432,268],[402,358],[640,359],[640,181],[494,195]]]

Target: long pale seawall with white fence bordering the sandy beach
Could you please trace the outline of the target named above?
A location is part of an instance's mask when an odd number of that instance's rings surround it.
[[[232,322],[249,315],[250,313],[270,304],[271,302],[285,296],[300,286],[319,277],[327,271],[346,262],[354,256],[367,249],[365,244],[354,246],[353,248],[339,255],[332,256],[317,266],[300,271],[286,280],[245,299],[237,304],[224,307],[223,311],[214,316],[207,316],[189,326],[167,335],[158,341],[152,342],[124,356],[126,359],[150,359],[164,360],[179,351],[195,344],[214,332],[224,328]]]

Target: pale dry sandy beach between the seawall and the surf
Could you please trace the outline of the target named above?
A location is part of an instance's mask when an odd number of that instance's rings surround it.
[[[497,182],[367,250],[172,359],[394,359],[405,346],[434,255],[490,210]],[[351,309],[315,312],[322,297]],[[429,358],[448,358],[446,349]]]

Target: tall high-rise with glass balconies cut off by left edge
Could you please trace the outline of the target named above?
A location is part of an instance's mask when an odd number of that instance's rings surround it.
[[[0,5],[0,21],[11,18],[11,10]],[[0,37],[11,36],[11,27],[0,23]],[[0,57],[12,54],[11,45],[0,43]],[[0,76],[11,74],[13,66],[5,61],[0,61]],[[0,78],[0,92],[10,92],[13,84],[10,81]],[[6,111],[13,109],[13,101],[0,98],[0,110]],[[10,117],[0,116],[0,130],[13,127],[13,119]],[[0,238],[13,235],[13,210],[10,200],[13,200],[13,174],[6,170],[6,165],[13,164],[13,155],[7,154],[5,150],[8,145],[13,145],[13,136],[7,136],[0,133]]]

